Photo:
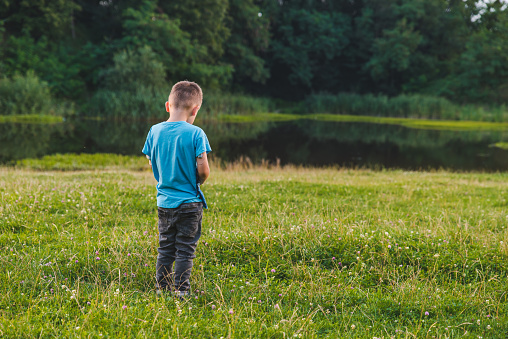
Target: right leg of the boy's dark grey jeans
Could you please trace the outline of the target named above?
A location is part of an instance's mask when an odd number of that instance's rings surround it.
[[[195,251],[201,237],[203,203],[182,204],[175,214],[176,224],[176,258],[174,283],[179,291],[190,291],[189,278]]]

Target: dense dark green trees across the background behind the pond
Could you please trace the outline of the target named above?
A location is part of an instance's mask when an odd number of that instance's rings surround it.
[[[0,3],[1,77],[31,72],[78,104],[151,98],[181,79],[289,101],[419,93],[502,103],[507,41],[501,0]]]

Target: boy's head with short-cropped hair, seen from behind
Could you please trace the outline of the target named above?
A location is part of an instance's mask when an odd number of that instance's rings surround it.
[[[203,91],[198,84],[191,81],[177,82],[169,93],[166,110],[183,111],[189,116],[196,115],[203,102]],[[170,113],[171,114],[171,113]]]

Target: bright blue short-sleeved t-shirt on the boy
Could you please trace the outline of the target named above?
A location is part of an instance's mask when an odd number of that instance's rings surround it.
[[[196,157],[211,151],[205,132],[185,121],[165,121],[150,128],[142,152],[152,162],[158,207],[200,201],[206,207],[197,185]]]

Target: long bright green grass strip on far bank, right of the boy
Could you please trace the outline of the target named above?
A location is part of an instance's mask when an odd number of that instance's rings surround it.
[[[452,130],[452,131],[503,131],[508,130],[508,123],[487,121],[429,120],[412,118],[373,117],[361,115],[337,114],[282,114],[258,113],[254,115],[220,115],[222,122],[259,122],[259,121],[291,121],[312,119],[332,122],[365,122],[373,124],[399,125],[416,129]]]

